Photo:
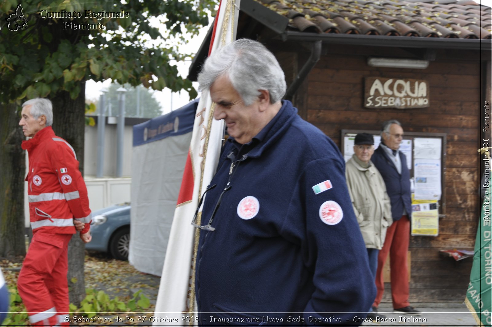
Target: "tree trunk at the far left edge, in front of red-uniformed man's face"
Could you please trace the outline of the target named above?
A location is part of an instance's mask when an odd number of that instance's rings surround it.
[[[24,140],[15,104],[0,103],[0,257],[26,255],[24,238]]]

